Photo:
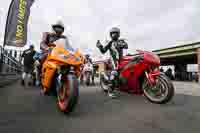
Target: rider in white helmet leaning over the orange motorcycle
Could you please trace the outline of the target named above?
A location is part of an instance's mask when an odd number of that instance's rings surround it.
[[[63,35],[65,27],[62,21],[57,21],[55,24],[52,25],[53,32],[45,32],[43,33],[42,41],[40,43],[40,49],[42,51],[41,63],[45,61],[48,53],[52,50],[49,47],[49,44],[55,42],[58,39],[64,38],[66,36]]]

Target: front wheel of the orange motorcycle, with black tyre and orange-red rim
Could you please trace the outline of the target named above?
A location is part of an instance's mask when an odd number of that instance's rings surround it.
[[[74,110],[79,98],[79,83],[75,75],[68,75],[61,85],[57,84],[57,105],[64,113]]]

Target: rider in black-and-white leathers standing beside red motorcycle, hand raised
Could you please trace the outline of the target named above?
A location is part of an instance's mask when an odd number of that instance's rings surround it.
[[[117,66],[118,66],[120,58],[123,56],[123,49],[128,49],[128,44],[124,40],[119,39],[120,29],[118,27],[111,28],[110,38],[111,38],[111,41],[109,41],[105,47],[98,40],[97,47],[103,54],[106,53],[107,51],[110,52],[111,64],[112,64],[112,72],[111,72],[110,80],[111,80],[112,86],[110,87],[110,90],[108,91],[108,95],[110,97],[116,97],[116,94],[113,92],[113,90],[116,87],[116,80],[118,78]]]

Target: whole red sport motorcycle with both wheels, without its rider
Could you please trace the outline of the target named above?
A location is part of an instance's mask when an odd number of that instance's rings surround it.
[[[165,104],[174,96],[174,86],[160,72],[160,58],[152,52],[137,50],[134,56],[124,56],[118,66],[118,89],[133,94],[144,95],[150,102]],[[107,92],[110,71],[100,76],[101,88]]]

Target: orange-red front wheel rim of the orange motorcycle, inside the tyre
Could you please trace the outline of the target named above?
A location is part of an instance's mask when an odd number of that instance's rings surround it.
[[[58,105],[62,111],[65,111],[68,106],[69,99],[69,83],[65,81],[58,90]]]

